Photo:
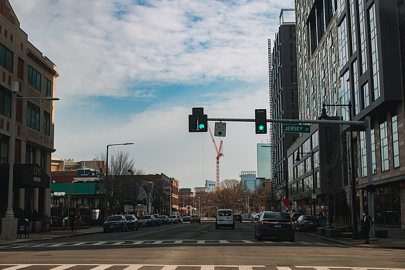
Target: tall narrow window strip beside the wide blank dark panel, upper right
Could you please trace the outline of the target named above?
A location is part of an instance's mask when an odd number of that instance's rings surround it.
[[[370,51],[371,51],[371,69],[373,75],[373,88],[372,88],[372,101],[380,97],[380,68],[378,66],[378,51],[377,51],[377,26],[376,26],[376,12],[375,4],[369,10],[369,27],[370,27]]]

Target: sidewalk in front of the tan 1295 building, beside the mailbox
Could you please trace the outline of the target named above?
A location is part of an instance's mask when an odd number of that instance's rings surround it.
[[[24,239],[25,236],[21,235],[21,239],[17,239],[14,241],[0,240],[0,246],[15,244],[15,243],[29,242],[29,241],[37,241],[37,240],[50,240],[50,239],[54,239],[54,238],[97,234],[97,233],[102,233],[102,232],[103,232],[103,227],[90,227],[90,229],[79,229],[76,231],[76,233],[67,231],[67,228],[66,228],[66,230],[64,230],[64,231],[51,231],[51,232],[47,232],[47,233],[31,233],[31,234],[29,234],[29,239]],[[19,236],[17,236],[17,237],[19,237]]]

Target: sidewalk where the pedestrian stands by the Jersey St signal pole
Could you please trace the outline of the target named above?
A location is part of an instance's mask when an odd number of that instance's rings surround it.
[[[359,247],[372,247],[372,248],[394,248],[405,249],[405,230],[399,228],[381,228],[376,227],[376,230],[387,230],[388,238],[370,238],[370,245],[363,244],[365,240],[353,240],[351,238],[330,238],[317,235],[316,233],[306,233],[313,237],[325,239],[334,243],[346,245],[346,246],[359,246]]]

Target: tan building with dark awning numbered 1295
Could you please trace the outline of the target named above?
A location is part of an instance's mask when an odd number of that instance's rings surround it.
[[[14,154],[13,210],[50,215],[56,66],[28,40],[9,1],[0,10],[0,217],[8,206],[9,162]],[[16,84],[14,84],[16,82]],[[17,87],[12,112],[12,84]],[[15,145],[11,148],[12,118]],[[4,225],[5,226],[5,225]]]

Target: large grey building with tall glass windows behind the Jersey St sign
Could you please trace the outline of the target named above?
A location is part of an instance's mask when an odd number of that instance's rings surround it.
[[[371,117],[376,192],[370,214],[376,225],[405,229],[405,190],[400,188],[405,179],[405,136],[400,132],[405,124],[405,3],[309,0],[296,1],[295,8],[300,117],[319,117],[323,103],[332,105],[326,107],[329,116]],[[341,128],[342,134],[348,130]],[[353,131],[352,143],[361,211],[368,207],[365,132]],[[341,171],[349,189],[350,172],[344,164]]]

